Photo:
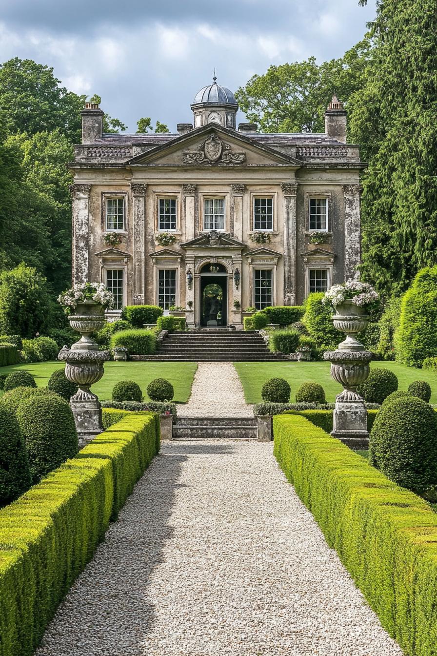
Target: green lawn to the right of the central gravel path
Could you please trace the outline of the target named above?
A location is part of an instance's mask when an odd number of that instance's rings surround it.
[[[406,390],[413,380],[426,380],[432,390],[430,403],[437,403],[437,376],[426,369],[407,367],[398,362],[371,362],[371,367],[384,367],[393,371],[399,380],[399,389]],[[284,378],[292,388],[290,402],[294,403],[297,388],[303,382],[315,380],[326,392],[328,402],[335,401],[341,386],[330,375],[329,362],[235,362],[246,403],[261,402],[261,388],[269,378]]]

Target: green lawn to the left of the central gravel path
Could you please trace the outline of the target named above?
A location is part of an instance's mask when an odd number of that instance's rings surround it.
[[[45,387],[48,379],[56,369],[65,365],[61,362],[35,362],[29,365],[11,365],[0,367],[0,373],[8,374],[17,369],[26,369],[35,377],[38,387]],[[191,393],[191,385],[197,369],[195,362],[107,362],[105,373],[98,383],[92,386],[92,392],[105,401],[112,396],[112,388],[119,380],[134,380],[140,385],[144,398],[149,399],[145,388],[154,378],[170,380],[174,386],[175,403],[186,403]]]

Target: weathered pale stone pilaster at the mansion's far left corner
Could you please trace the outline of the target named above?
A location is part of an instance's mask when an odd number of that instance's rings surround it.
[[[90,248],[90,184],[71,184],[73,243],[71,281],[73,285],[88,281]]]

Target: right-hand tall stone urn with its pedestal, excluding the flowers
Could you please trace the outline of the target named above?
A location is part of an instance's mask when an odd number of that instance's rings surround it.
[[[335,397],[331,435],[352,449],[366,448],[369,443],[367,410],[357,388],[370,373],[372,355],[356,338],[368,321],[366,310],[354,305],[352,300],[337,306],[333,325],[346,333],[346,338],[336,351],[324,353],[324,359],[331,362],[333,379],[343,386],[343,392]]]

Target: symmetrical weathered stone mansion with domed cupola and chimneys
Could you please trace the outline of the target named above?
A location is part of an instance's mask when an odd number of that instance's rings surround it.
[[[241,327],[248,306],[301,304],[356,276],[357,146],[333,96],[323,134],[236,125],[234,94],[201,89],[178,134],[105,134],[87,103],[71,163],[73,283],[104,281],[123,305],[182,306]],[[209,305],[208,305],[209,303]]]

